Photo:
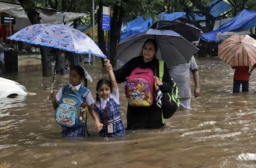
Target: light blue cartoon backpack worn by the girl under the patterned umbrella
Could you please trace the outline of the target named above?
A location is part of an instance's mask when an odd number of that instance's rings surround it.
[[[59,125],[75,128],[86,122],[86,107],[82,101],[82,94],[86,90],[87,88],[84,86],[77,91],[71,90],[69,85],[64,85],[63,94],[55,113],[55,120]]]

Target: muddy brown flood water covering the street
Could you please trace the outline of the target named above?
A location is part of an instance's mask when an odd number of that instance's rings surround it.
[[[41,72],[2,75],[31,93],[0,99],[0,167],[256,167],[256,71],[248,93],[233,94],[234,70],[214,58],[197,58],[200,97],[191,109],[179,109],[166,127],[127,131],[122,138],[102,138],[88,117],[90,136],[61,136],[54,111],[46,98],[51,77]],[[88,88],[95,98],[96,82],[107,77],[100,59],[86,65],[93,77]],[[68,82],[56,75],[55,92]],[[121,117],[126,126],[124,85]],[[192,88],[194,85],[192,85]]]

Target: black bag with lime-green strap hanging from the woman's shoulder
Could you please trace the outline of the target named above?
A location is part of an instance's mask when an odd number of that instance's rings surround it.
[[[164,72],[164,61],[159,60],[159,79],[162,81]],[[163,92],[163,97],[161,98],[161,108],[163,112],[164,119],[169,119],[173,116],[179,107],[179,93],[176,83],[173,83],[173,88],[170,93]]]

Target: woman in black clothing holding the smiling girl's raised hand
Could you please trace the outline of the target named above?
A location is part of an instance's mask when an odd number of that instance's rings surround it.
[[[114,70],[117,83],[126,82],[126,78],[130,73],[140,67],[141,69],[151,69],[154,74],[155,85],[161,91],[169,91],[173,86],[173,81],[169,77],[168,69],[164,64],[164,74],[162,82],[159,79],[159,62],[156,59],[156,52],[158,51],[158,44],[155,39],[149,38],[142,47],[143,56],[137,56],[126,64],[121,69]],[[105,69],[113,69],[110,61],[105,62]],[[155,90],[156,88],[154,88]],[[156,105],[155,100],[151,106],[131,106],[127,107],[127,130],[143,129],[143,128],[160,128],[164,125],[161,116],[161,108]]]

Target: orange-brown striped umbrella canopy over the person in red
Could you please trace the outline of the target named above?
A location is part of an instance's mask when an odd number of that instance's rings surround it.
[[[218,44],[218,58],[231,66],[256,63],[256,40],[249,35],[232,35]]]

